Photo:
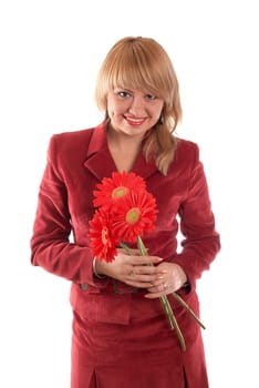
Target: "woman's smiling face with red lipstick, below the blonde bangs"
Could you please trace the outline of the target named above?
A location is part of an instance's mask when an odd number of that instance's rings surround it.
[[[164,101],[153,93],[115,88],[107,93],[107,113],[114,130],[143,136],[159,120]]]

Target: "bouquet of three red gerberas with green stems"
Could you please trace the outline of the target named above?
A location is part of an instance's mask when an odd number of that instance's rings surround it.
[[[96,207],[90,221],[93,257],[112,262],[120,246],[131,254],[127,243],[136,243],[141,255],[148,256],[142,237],[144,233],[154,231],[158,210],[154,196],[146,190],[145,181],[134,173],[114,172],[112,177],[104,177],[97,184],[93,194],[93,205]],[[176,292],[172,295],[204,327],[182,297]],[[166,295],[160,296],[160,303],[169,327],[176,330],[180,347],[185,350],[184,336]]]

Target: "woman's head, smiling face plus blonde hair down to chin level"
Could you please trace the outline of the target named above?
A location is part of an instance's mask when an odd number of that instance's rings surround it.
[[[95,101],[114,129],[131,134],[152,129],[162,110],[158,131],[173,132],[182,118],[173,63],[149,38],[126,37],[112,47],[97,74]]]

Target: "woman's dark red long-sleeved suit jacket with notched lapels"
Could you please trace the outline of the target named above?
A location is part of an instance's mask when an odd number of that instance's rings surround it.
[[[132,294],[124,294],[123,284],[117,282],[118,293],[120,289],[123,293],[122,303],[121,298],[114,297],[112,279],[100,282],[93,276],[89,241],[93,191],[113,171],[116,166],[107,147],[104,124],[52,136],[40,185],[31,262],[72,282],[71,304],[82,316],[93,321],[127,325]],[[198,146],[179,139],[175,160],[166,176],[160,174],[155,163],[147,164],[142,154],[132,171],[146,181],[159,211],[155,231],[144,236],[145,246],[151,255],[184,268],[190,288],[180,293],[198,314],[196,280],[209,268],[220,248]],[[180,249],[177,247],[178,219],[182,219],[184,236]],[[80,286],[82,284],[83,287]],[[139,310],[146,317],[153,317],[160,308],[159,299],[142,298],[139,303]],[[196,336],[197,324],[186,319],[182,321],[177,302],[172,299],[172,306],[188,347]]]

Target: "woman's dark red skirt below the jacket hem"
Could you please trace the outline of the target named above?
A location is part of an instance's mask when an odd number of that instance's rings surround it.
[[[97,323],[73,312],[71,388],[208,388],[197,323],[182,308],[187,346],[182,351],[163,310],[145,319],[141,304],[133,294],[128,325]]]

